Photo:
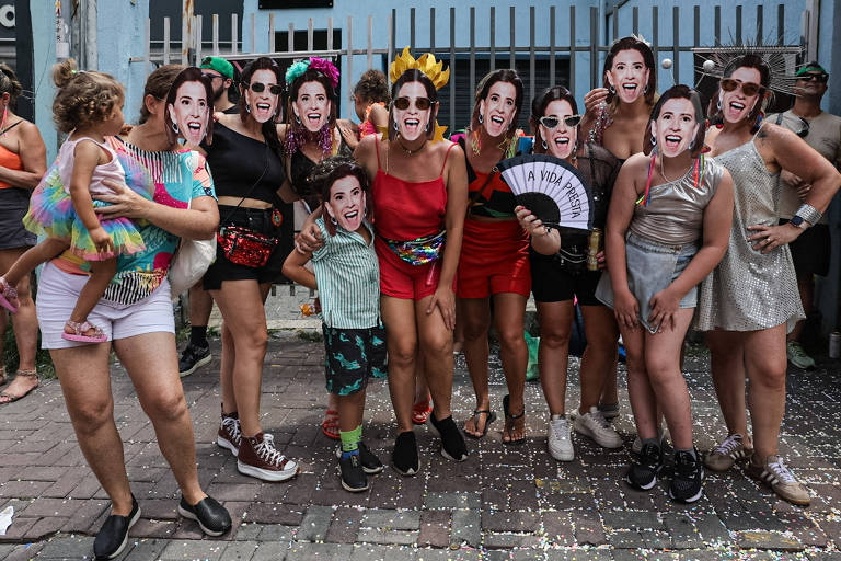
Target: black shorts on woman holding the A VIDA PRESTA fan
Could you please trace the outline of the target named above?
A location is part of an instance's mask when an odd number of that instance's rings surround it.
[[[596,299],[601,271],[587,271],[561,263],[557,256],[531,255],[531,291],[538,302],[561,302],[578,298],[581,306],[604,306]]]

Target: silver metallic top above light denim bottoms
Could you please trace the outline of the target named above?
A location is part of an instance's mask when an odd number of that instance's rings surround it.
[[[684,245],[701,238],[704,208],[715,195],[724,168],[705,158],[703,175],[695,186],[694,165],[679,180],[652,185],[648,205],[634,207],[629,229],[664,245]]]

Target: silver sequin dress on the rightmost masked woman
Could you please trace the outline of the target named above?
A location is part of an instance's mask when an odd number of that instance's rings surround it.
[[[748,226],[775,226],[784,188],[780,173],[765,168],[756,137],[715,157],[733,176],[735,208],[724,259],[701,284],[695,329],[754,331],[803,319],[788,245],[762,254],[748,242]]]

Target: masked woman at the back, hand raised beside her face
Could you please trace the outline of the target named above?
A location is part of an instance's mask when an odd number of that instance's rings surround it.
[[[581,121],[585,138],[603,146],[620,163],[643,151],[645,130],[657,95],[657,71],[652,47],[640,36],[613,43],[604,58],[602,88],[584,96]],[[603,253],[599,255],[603,259]],[[615,354],[613,355],[615,357]],[[619,415],[615,358],[608,371],[599,402],[606,419]],[[634,443],[634,449],[637,449]]]

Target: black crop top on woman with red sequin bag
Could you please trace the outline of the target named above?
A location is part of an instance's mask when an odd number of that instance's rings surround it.
[[[278,202],[277,190],[286,180],[286,169],[267,144],[216,123],[214,144],[201,142],[201,148],[207,152],[216,196]]]

